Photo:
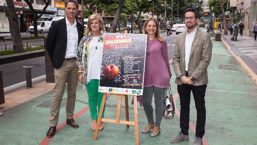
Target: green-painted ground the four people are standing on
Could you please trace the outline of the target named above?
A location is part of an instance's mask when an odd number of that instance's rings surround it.
[[[257,87],[246,75],[244,70],[232,57],[221,42],[213,41],[213,55],[208,67],[209,84],[206,90],[206,142],[209,145],[257,145]],[[171,78],[172,93],[177,93],[174,83],[175,75]],[[49,127],[50,108],[33,108],[33,106],[51,100],[53,91],[29,100],[9,110],[0,117],[0,144],[2,145],[34,145],[40,144]],[[63,100],[66,100],[64,93]],[[133,121],[134,112],[129,96],[129,116]],[[115,119],[117,99],[114,95],[107,97],[105,118]],[[177,111],[180,111],[179,97],[176,99]],[[86,89],[79,84],[74,115],[88,106]],[[153,103],[154,106],[154,103]],[[85,110],[85,109],[84,109]],[[121,103],[121,120],[126,120],[124,99]],[[66,121],[65,107],[60,109],[59,123]],[[93,140],[89,110],[75,120],[79,128],[64,126],[49,142],[49,144],[135,144],[134,126],[104,123],[105,128],[98,132],[97,140]],[[190,122],[196,125],[196,110],[191,94]],[[140,144],[171,144],[169,139],[180,131],[179,117],[163,119],[161,133],[157,137],[150,137],[150,133],[142,134],[147,119],[143,107],[138,103],[138,126]],[[194,132],[189,129],[189,141],[182,141],[178,145],[191,145]]]

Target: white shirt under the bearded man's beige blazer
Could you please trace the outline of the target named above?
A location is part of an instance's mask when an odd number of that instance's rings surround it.
[[[185,71],[188,71],[189,56],[197,28],[190,34],[187,33],[185,40]]]

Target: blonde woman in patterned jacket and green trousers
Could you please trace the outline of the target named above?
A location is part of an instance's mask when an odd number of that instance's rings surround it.
[[[98,92],[101,61],[103,53],[104,21],[99,14],[88,17],[86,35],[79,43],[77,65],[79,66],[79,82],[84,84],[88,93],[88,105],[92,118],[91,129],[95,131],[103,93]],[[98,108],[98,111],[97,111]],[[104,117],[105,106],[102,118]],[[103,122],[99,130],[103,129]]]

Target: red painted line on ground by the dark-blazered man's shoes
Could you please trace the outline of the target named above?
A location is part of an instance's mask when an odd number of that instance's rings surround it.
[[[81,111],[79,111],[77,114],[75,114],[75,115],[73,116],[74,120],[75,120],[76,118],[78,118],[80,115],[82,115],[82,114],[84,114],[85,112],[87,112],[88,110],[89,110],[89,106],[87,106],[87,107],[85,107],[84,109],[82,109]],[[59,132],[59,131],[60,131],[61,129],[63,129],[65,126],[66,126],[66,121],[65,121],[65,122],[62,122],[62,124],[58,125],[58,126],[56,127],[56,132],[55,132],[55,134],[57,134],[57,132]],[[54,136],[55,136],[55,134],[54,134]],[[54,137],[54,136],[53,136],[53,137]],[[45,137],[45,138],[41,141],[41,143],[40,143],[39,145],[47,145],[47,144],[49,144],[50,141],[53,139],[53,137]]]

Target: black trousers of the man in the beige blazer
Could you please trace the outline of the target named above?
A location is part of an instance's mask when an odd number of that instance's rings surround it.
[[[195,100],[195,108],[197,110],[196,134],[195,136],[202,138],[205,132],[205,91],[207,85],[194,86],[182,84],[178,85],[178,94],[180,97],[180,128],[181,133],[187,135],[189,129],[189,112],[190,112],[190,94],[191,91]]]

